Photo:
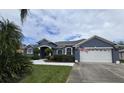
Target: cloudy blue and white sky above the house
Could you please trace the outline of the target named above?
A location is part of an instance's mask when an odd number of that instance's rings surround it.
[[[21,25],[19,10],[0,10],[0,17],[22,29],[25,44],[46,38],[53,42],[78,40],[93,35],[124,41],[124,10],[30,10]]]

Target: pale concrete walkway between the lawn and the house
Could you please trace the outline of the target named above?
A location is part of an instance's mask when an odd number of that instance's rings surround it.
[[[75,63],[68,62],[45,62],[44,59],[32,60],[33,64],[36,65],[57,65],[57,66],[74,66]]]

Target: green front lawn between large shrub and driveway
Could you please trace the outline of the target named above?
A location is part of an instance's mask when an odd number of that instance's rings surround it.
[[[20,83],[64,83],[71,69],[69,66],[33,65],[32,74]]]

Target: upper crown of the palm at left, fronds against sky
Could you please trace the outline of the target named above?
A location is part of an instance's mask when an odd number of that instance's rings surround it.
[[[15,53],[20,47],[23,34],[19,26],[7,20],[0,21],[0,51],[3,54]]]

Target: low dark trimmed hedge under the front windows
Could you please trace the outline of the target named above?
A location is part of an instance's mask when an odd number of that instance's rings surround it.
[[[50,57],[50,60],[57,62],[74,62],[75,58],[73,55],[54,55]]]

